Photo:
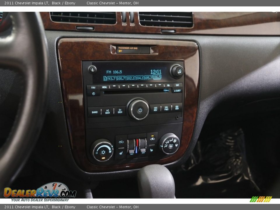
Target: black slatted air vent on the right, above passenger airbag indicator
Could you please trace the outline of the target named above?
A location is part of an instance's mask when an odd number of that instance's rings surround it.
[[[183,27],[193,26],[192,12],[139,12],[142,26]]]

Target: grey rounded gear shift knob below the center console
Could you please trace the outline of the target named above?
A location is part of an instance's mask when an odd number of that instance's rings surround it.
[[[170,171],[162,165],[148,165],[137,174],[141,198],[175,198],[175,184]]]

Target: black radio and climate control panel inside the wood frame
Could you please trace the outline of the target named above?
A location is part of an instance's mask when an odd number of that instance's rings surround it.
[[[82,64],[86,145],[92,163],[162,159],[178,150],[183,125],[183,61]]]

